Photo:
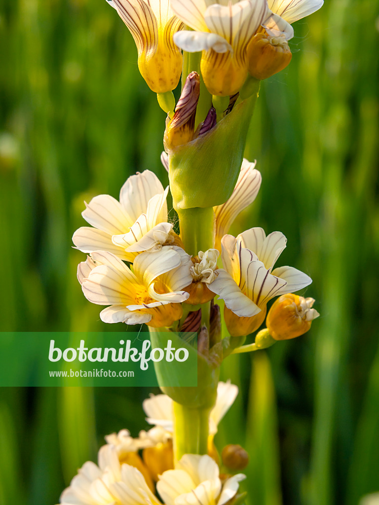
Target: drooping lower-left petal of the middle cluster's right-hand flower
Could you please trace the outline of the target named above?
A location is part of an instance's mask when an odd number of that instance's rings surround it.
[[[240,317],[252,317],[261,311],[245,296],[232,277],[225,270],[217,270],[218,275],[208,288],[225,301],[225,305]]]

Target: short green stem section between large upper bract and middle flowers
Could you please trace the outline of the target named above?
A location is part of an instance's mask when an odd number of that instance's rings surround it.
[[[179,217],[180,238],[184,250],[197,256],[199,251],[214,247],[215,217],[212,207],[202,209],[177,209]]]

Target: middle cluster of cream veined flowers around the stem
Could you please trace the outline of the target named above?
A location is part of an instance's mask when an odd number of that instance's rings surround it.
[[[109,306],[100,313],[102,321],[177,328],[183,304],[195,310],[217,294],[225,302],[230,335],[257,330],[270,299],[312,282],[293,267],[273,268],[286,247],[282,233],[266,236],[262,228],[251,228],[236,238],[227,234],[260,184],[255,163],[244,159],[230,198],[213,209],[215,247],[195,257],[168,222],[168,188],[153,172],[129,177],[119,201],[109,195],[92,198],[82,213],[92,227],[79,228],[73,241],[90,253],[78,266],[78,280],[89,301]]]

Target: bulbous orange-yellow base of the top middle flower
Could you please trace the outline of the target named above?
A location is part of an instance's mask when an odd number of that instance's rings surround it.
[[[208,91],[218,96],[238,93],[248,76],[246,67],[240,65],[230,51],[216,53],[210,49],[203,53],[200,69]]]

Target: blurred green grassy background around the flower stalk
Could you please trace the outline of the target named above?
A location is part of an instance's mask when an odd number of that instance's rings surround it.
[[[83,200],[160,165],[165,115],[105,0],[0,2],[2,331],[101,331],[76,281]],[[231,357],[216,442],[241,443],[251,505],[355,505],[379,490],[378,0],[325,0],[265,81],[246,156],[263,182],[232,232],[280,230],[313,278],[304,337]],[[108,325],[107,331],[119,330]],[[4,388],[0,503],[58,503],[103,437],[147,428],[144,388]]]

